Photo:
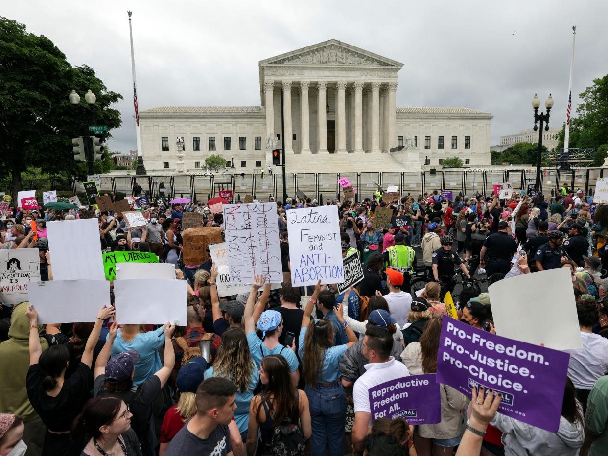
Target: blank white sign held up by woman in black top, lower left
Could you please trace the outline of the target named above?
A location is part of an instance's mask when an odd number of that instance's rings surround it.
[[[31,282],[29,297],[39,325],[94,322],[99,310],[110,305],[110,284],[105,280]]]

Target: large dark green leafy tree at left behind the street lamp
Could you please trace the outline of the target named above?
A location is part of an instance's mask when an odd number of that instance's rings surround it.
[[[21,173],[40,167],[46,173],[80,174],[71,139],[83,136],[67,95],[88,89],[97,97],[98,125],[121,124],[110,106],[120,94],[108,91],[89,66],[72,65],[46,36],[26,32],[19,22],[0,16],[0,173],[11,176],[12,194],[21,189]],[[107,139],[109,131],[102,135]]]

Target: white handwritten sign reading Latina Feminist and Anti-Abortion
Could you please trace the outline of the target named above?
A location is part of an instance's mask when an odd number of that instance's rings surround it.
[[[337,206],[287,211],[291,285],[344,282]]]

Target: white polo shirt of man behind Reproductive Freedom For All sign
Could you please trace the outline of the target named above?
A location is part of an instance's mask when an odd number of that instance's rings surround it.
[[[371,387],[389,380],[408,377],[409,375],[410,372],[407,370],[407,367],[402,362],[395,361],[395,358],[392,356],[387,362],[370,362],[365,364],[365,373],[354,382],[354,412],[371,413],[369,394]]]

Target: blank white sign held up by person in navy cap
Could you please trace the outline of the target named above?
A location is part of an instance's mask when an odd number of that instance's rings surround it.
[[[143,311],[142,290],[146,291]],[[171,297],[171,305],[167,305],[168,296]],[[187,280],[116,280],[114,300],[116,321],[121,325],[187,324]]]

